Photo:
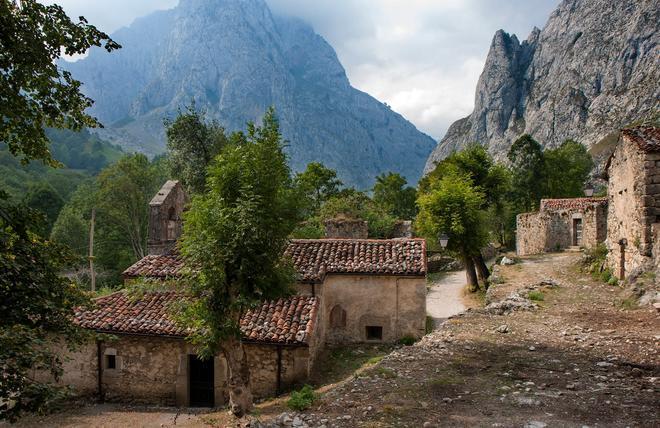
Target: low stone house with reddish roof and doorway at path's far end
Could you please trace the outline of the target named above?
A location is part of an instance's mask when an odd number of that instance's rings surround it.
[[[594,247],[606,239],[607,213],[607,198],[542,199],[538,212],[516,218],[516,252]]]

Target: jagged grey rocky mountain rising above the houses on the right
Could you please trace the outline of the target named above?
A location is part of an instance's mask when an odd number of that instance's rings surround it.
[[[549,147],[567,138],[592,147],[657,114],[659,15],[656,0],[564,0],[522,43],[495,33],[474,111],[449,127],[425,172],[470,142],[499,159],[523,133]]]

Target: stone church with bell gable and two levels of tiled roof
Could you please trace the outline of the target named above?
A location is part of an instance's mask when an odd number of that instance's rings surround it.
[[[167,284],[183,269],[174,244],[187,200],[179,183],[163,186],[150,203],[150,254],[124,272],[126,281],[168,280],[163,290],[139,296],[118,291],[76,313],[81,326],[117,337],[70,355],[63,382],[79,392],[180,406],[227,400],[224,359],[199,360],[185,340],[188,332],[171,318],[172,305],[185,298]],[[303,383],[326,344],[421,337],[425,250],[419,239],[293,240],[285,255],[298,272],[298,295],[264,302],[241,320],[255,397]]]

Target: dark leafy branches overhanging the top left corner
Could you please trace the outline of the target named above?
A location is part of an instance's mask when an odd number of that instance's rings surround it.
[[[85,113],[93,101],[57,60],[92,46],[119,46],[80,17],[74,23],[58,5],[0,0],[0,141],[23,162],[55,165],[44,126],[80,130],[99,122]]]

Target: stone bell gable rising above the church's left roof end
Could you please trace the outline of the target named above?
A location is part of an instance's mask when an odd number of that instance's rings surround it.
[[[168,180],[149,202],[149,254],[165,254],[181,236],[181,215],[189,198],[181,183]]]

